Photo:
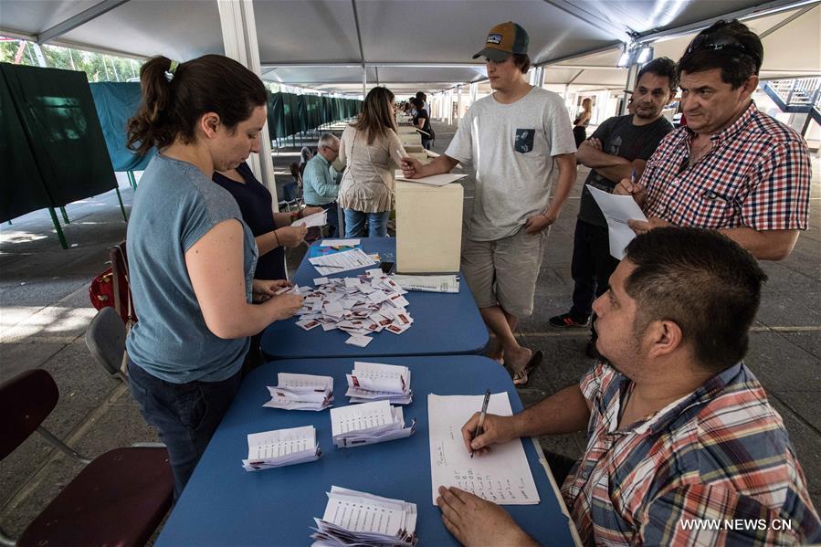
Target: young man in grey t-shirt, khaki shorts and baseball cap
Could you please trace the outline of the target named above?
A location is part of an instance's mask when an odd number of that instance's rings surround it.
[[[510,366],[517,385],[527,384],[542,352],[521,347],[513,331],[532,313],[545,229],[559,216],[576,176],[570,117],[558,95],[524,79],[527,45],[527,33],[515,23],[491,28],[473,58],[486,58],[493,94],[470,107],[443,155],[426,165],[410,158],[402,165],[410,178],[447,173],[457,163],[474,174],[461,268],[493,333],[490,355]]]

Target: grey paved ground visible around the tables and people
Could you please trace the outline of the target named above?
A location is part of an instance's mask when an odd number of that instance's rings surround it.
[[[437,151],[452,131],[437,125]],[[278,181],[286,182],[292,150],[279,154]],[[821,184],[819,161],[814,184],[810,229],[801,235],[792,256],[765,263],[770,276],[753,328],[747,363],[767,389],[804,466],[813,500],[821,507]],[[547,320],[567,310],[573,281],[570,258],[574,216],[586,170],[573,197],[553,226],[537,289],[536,311],[523,321],[519,335],[546,362],[527,389],[532,404],[572,384],[591,364],[584,356],[584,331],[552,329]],[[466,184],[466,212],[471,188]],[[127,208],[132,190],[122,190]],[[46,426],[81,452],[97,456],[113,447],[154,441],[156,436],[125,387],[92,362],[83,333],[95,310],[89,306],[90,279],[103,268],[107,248],[125,236],[125,223],[113,193],[68,205],[65,227],[71,247],[59,247],[47,212],[40,211],[3,225],[0,232],[0,380],[41,367],[54,375],[60,402]],[[300,253],[291,253],[290,266]],[[542,446],[567,456],[584,447],[581,435],[543,438]],[[31,437],[0,463],[0,528],[19,533],[79,470],[39,437]]]

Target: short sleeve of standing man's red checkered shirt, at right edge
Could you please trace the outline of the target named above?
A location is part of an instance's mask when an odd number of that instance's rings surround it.
[[[803,141],[779,142],[753,173],[742,203],[742,224],[754,230],[804,230],[810,194],[810,160]]]

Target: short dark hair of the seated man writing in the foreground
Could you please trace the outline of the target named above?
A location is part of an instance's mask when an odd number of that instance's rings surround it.
[[[767,279],[749,252],[714,230],[663,227],[631,241],[626,259],[636,265],[625,290],[637,303],[637,334],[673,321],[706,370],[742,360]]]

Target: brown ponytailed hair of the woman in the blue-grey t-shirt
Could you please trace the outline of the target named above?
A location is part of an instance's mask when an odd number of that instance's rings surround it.
[[[262,80],[232,58],[204,55],[173,74],[171,67],[171,59],[154,57],[140,69],[142,104],[128,121],[126,146],[141,155],[178,138],[193,142],[196,122],[206,112],[216,112],[233,130],[268,99]]]

